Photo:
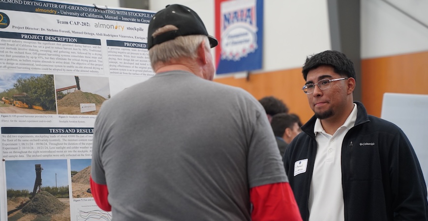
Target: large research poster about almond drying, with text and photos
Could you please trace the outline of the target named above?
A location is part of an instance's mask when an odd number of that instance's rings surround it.
[[[90,189],[93,125],[104,101],[154,75],[153,15],[0,0],[0,220],[111,220]]]

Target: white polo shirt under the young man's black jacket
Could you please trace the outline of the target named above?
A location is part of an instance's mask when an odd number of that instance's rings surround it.
[[[340,165],[342,142],[355,125],[357,105],[332,136],[327,134],[319,119],[315,122],[317,152],[309,193],[309,221],[344,221],[342,170]]]

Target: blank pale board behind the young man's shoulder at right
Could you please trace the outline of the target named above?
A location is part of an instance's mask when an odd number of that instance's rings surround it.
[[[425,183],[428,184],[428,95],[385,93],[381,118],[396,124],[409,138],[415,150]]]

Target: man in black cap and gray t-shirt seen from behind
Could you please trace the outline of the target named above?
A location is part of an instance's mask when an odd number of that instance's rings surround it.
[[[121,221],[301,220],[263,107],[211,81],[218,43],[199,16],[169,5],[148,32],[156,75],[106,101],[96,118],[98,206]]]

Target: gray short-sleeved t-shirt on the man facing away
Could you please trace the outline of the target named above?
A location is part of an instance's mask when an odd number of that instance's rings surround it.
[[[249,189],[288,182],[260,103],[184,71],[104,102],[91,175],[117,221],[250,220]]]

